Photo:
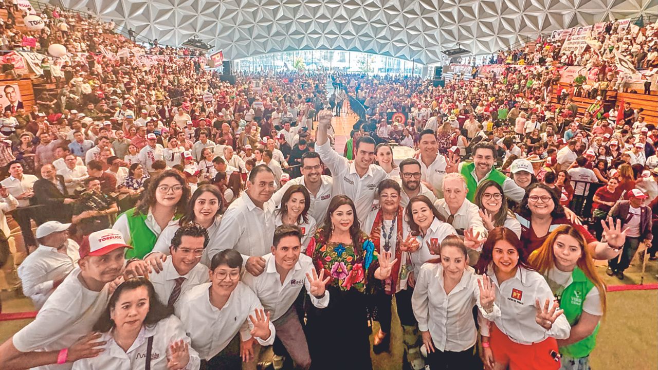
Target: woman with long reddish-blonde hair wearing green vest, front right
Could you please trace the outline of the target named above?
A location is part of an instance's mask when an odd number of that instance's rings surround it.
[[[558,340],[561,370],[590,369],[599,322],[605,313],[605,282],[594,267],[587,242],[573,226],[559,226],[528,261],[544,275],[571,325],[569,338]]]

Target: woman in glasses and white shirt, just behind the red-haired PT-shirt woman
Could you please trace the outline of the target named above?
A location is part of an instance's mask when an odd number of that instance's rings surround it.
[[[484,180],[475,190],[475,204],[480,208],[482,223],[488,231],[498,226],[512,230],[521,237],[521,224],[507,208],[503,187],[493,180]]]

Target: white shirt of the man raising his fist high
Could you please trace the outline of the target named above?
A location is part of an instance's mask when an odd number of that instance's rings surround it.
[[[359,176],[354,163],[338,155],[328,141],[324,145],[315,144],[315,151],[334,177],[332,194],[343,194],[352,199],[357,208],[357,217],[365,221],[377,194],[378,184],[388,178],[386,171],[378,165],[370,165],[363,177]]]

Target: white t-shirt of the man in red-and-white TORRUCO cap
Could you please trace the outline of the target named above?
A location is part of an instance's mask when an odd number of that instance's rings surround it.
[[[109,302],[109,284],[93,292],[80,282],[80,269],[73,270],[55,289],[36,319],[13,336],[20,352],[59,351],[91,332]],[[45,365],[32,370],[68,370],[72,363]]]

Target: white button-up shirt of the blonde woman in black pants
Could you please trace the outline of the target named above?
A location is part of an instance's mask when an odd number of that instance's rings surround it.
[[[416,280],[411,305],[418,320],[420,331],[430,330],[434,347],[440,351],[461,352],[474,346],[477,330],[472,308],[478,305],[480,326],[500,316],[500,309],[493,305],[492,313],[486,313],[480,305],[478,275],[467,266],[457,286],[449,293],[443,288],[441,263],[425,263]]]

